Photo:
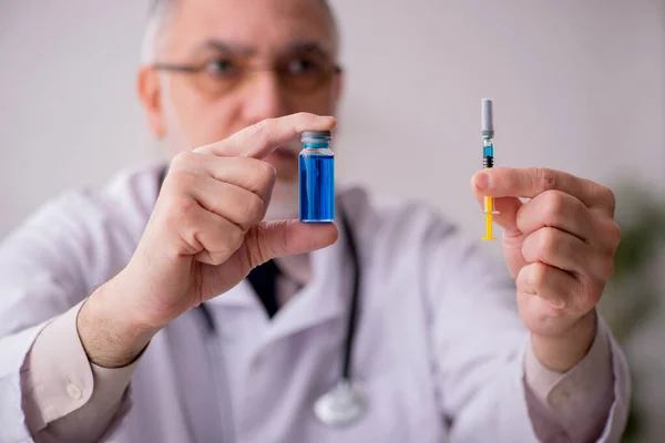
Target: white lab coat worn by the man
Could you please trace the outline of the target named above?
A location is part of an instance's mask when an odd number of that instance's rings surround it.
[[[0,337],[22,331],[0,340],[0,435],[9,439],[0,441],[29,440],[18,406],[21,362],[45,320],[126,265],[154,205],[157,173],[126,172],[102,192],[66,194],[0,249]],[[426,206],[340,194],[362,264],[352,372],[367,390],[367,415],[331,429],[311,406],[340,373],[351,286],[340,238],[311,255],[311,284],[272,321],[242,282],[211,301],[216,334],[197,311],[161,331],[108,441],[213,442],[229,416],[238,442],[538,441],[512,281]],[[215,383],[222,372],[212,370],[206,342],[224,354],[227,383]],[[612,353],[615,403],[602,441],[615,441],[627,404],[625,361],[614,343]],[[219,398],[218,385],[228,395]]]

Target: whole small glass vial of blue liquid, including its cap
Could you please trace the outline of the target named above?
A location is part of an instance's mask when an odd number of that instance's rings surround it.
[[[330,138],[329,131],[306,131],[300,136],[300,222],[335,220],[335,156]]]

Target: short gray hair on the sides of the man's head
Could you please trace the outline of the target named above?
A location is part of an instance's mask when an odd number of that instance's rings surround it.
[[[325,8],[326,13],[330,20],[332,31],[335,32],[335,40],[339,39],[337,30],[337,21],[332,9],[327,0],[318,0],[319,3]],[[143,64],[155,63],[161,52],[164,39],[165,23],[171,19],[171,14],[175,10],[177,0],[152,0],[147,14],[147,23],[143,33],[143,43],[141,45],[141,62]]]

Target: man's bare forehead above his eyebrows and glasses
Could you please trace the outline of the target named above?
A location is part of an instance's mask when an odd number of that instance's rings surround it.
[[[177,0],[172,13],[175,50],[190,52],[208,41],[257,52],[298,42],[336,49],[330,11],[319,0]]]

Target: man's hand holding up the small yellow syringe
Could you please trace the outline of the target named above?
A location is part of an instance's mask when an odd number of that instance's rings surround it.
[[[495,197],[494,220],[504,229],[503,254],[535,356],[552,370],[571,369],[593,342],[595,306],[614,270],[614,194],[545,168],[483,169],[471,187],[481,205],[483,196]]]

